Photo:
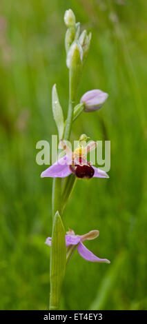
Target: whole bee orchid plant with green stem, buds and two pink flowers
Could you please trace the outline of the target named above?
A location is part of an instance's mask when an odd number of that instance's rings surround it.
[[[99,259],[92,254],[84,245],[83,241],[95,239],[99,231],[92,230],[87,234],[75,235],[74,231],[67,232],[61,221],[61,214],[75,185],[76,179],[108,178],[106,172],[95,168],[87,161],[87,154],[96,148],[94,141],[83,146],[82,140],[87,141],[88,136],[81,135],[79,147],[72,152],[66,145],[70,139],[72,123],[81,112],[91,112],[101,108],[108,94],[101,90],[91,90],[81,97],[80,103],[76,103],[77,87],[81,76],[81,70],[90,47],[91,34],[86,30],[80,34],[80,23],[76,23],[75,14],[72,10],[67,10],[64,15],[67,26],[66,45],[66,65],[69,69],[69,102],[67,119],[64,120],[56,85],[52,88],[52,112],[57,125],[60,148],[63,149],[61,159],[51,165],[50,168],[42,172],[41,176],[54,178],[52,185],[52,238],[46,240],[51,245],[50,254],[50,310],[59,309],[59,299],[61,295],[61,285],[66,272],[66,265],[70,261],[72,254],[77,250],[86,260],[92,262],[110,263],[108,259]],[[65,178],[64,181],[61,181]]]

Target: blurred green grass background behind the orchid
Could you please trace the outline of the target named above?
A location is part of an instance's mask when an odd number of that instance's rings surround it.
[[[66,115],[64,11],[92,32],[79,86],[108,92],[104,108],[81,114],[82,133],[111,141],[110,179],[77,181],[63,222],[100,236],[86,246],[110,265],[77,252],[63,283],[61,310],[147,309],[147,43],[145,0],[2,0],[0,6],[0,308],[44,310],[49,302],[52,179],[41,179],[36,143],[56,134],[51,90]]]

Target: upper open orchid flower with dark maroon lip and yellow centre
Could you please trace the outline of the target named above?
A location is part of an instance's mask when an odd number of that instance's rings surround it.
[[[86,147],[80,145],[74,152],[68,148],[66,143],[61,140],[61,147],[65,150],[66,155],[52,164],[48,169],[41,173],[41,178],[64,178],[70,174],[75,174],[79,179],[109,178],[106,172],[95,168],[92,163],[88,162],[86,156],[91,150],[95,150],[97,143],[91,141]]]

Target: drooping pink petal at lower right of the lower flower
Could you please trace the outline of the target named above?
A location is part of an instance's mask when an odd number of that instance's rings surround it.
[[[79,242],[77,246],[77,250],[79,254],[82,256],[82,258],[86,259],[87,261],[110,263],[110,261],[107,259],[99,259],[95,254],[90,252],[90,250],[88,250],[87,247],[85,247],[85,245],[81,242]]]

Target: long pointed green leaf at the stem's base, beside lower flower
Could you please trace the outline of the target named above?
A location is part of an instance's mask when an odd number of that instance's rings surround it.
[[[52,227],[50,251],[50,310],[59,309],[61,285],[66,271],[66,231],[59,212],[56,212]]]

